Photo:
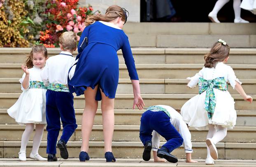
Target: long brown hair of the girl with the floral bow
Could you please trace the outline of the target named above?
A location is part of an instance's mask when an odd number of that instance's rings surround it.
[[[221,42],[216,42],[212,46],[210,52],[204,56],[205,67],[212,68],[216,66],[216,63],[224,61],[229,55],[230,47]]]

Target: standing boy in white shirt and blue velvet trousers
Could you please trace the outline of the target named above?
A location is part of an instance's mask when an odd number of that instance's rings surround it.
[[[73,106],[74,96],[67,86],[68,71],[75,61],[72,53],[77,49],[77,34],[64,32],[59,41],[61,53],[50,57],[41,72],[42,80],[48,86],[46,92],[48,161],[57,161],[56,142],[61,130],[61,122],[63,133],[57,147],[63,159],[68,158],[66,144],[77,128]]]

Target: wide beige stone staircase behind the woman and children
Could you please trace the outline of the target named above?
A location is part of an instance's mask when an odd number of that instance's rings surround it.
[[[203,55],[209,51],[208,47],[213,43],[211,40],[216,41],[218,38],[223,38],[228,44],[230,43],[228,63],[243,82],[246,93],[256,99],[256,49],[254,48],[256,47],[256,24],[129,23],[125,27],[124,30],[133,46],[132,51],[140,77],[140,88],[146,104],[145,108],[151,105],[165,104],[179,111],[188,99],[196,95],[198,88],[186,88],[186,77],[193,76],[202,68]],[[218,33],[220,34],[218,35]],[[168,38],[161,41],[161,36],[163,38],[168,36]],[[174,36],[179,36],[175,45],[170,42],[173,41]],[[148,45],[152,42],[151,38],[153,37],[154,45]],[[199,40],[198,43],[196,38],[201,38],[201,41]],[[209,38],[211,39],[208,40]],[[241,41],[236,41],[239,38]],[[202,42],[205,44],[201,45]],[[179,47],[182,45],[184,47]],[[236,48],[233,48],[233,45]],[[18,156],[24,126],[16,124],[14,119],[9,117],[7,108],[16,102],[21,93],[18,80],[23,72],[20,67],[29,53],[30,48],[0,48],[0,157],[2,158]],[[48,53],[49,56],[58,54],[59,49],[49,48]],[[120,51],[118,51],[118,55],[120,79],[114,106],[113,153],[116,158],[141,158],[143,147],[139,139],[139,128],[140,115],[144,111],[131,109],[133,105],[132,85]],[[228,130],[226,138],[216,145],[219,159],[255,159],[256,102],[248,104],[231,86],[228,90],[235,99],[237,124],[234,129]],[[70,157],[77,158],[81,146],[83,96],[74,97],[74,108],[79,126],[67,145]],[[94,124],[89,154],[93,158],[102,158],[104,157],[104,142],[100,109],[97,111]],[[197,131],[193,128],[190,130],[194,150],[192,157],[206,158],[207,131]],[[30,140],[27,153],[30,153],[32,149],[32,137]],[[44,131],[39,150],[42,156],[46,156],[46,140],[47,131]],[[163,144],[164,139],[162,138],[161,141]],[[173,151],[173,154],[178,158],[185,158],[183,147]]]

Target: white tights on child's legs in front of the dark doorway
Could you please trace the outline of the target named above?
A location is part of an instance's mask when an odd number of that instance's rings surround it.
[[[218,0],[212,9],[212,14],[217,15],[219,10],[226,4],[228,3],[229,0]],[[233,9],[235,12],[235,19],[240,19],[241,17],[241,0],[233,0]]]

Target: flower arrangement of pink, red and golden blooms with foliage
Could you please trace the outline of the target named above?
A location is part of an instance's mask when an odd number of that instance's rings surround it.
[[[79,0],[5,0],[0,10],[0,47],[29,47],[40,41],[46,47],[59,47],[65,31],[84,30],[93,7],[78,7]],[[3,10],[2,10],[3,9]]]

